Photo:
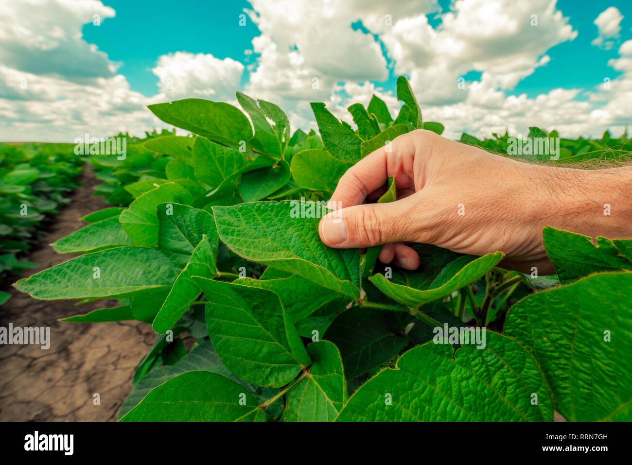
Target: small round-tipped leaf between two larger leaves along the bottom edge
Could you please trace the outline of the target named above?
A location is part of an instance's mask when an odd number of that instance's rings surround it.
[[[307,353],[310,375],[289,391],[284,421],[334,421],[346,401],[340,354],[327,341],[312,342]]]

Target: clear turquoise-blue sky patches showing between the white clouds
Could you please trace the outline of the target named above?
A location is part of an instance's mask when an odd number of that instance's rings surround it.
[[[151,68],[157,57],[175,51],[211,53],[218,58],[232,57],[250,63],[252,57],[244,54],[252,49],[252,39],[260,34],[252,21],[245,27],[238,25],[238,16],[244,8],[252,8],[248,1],[209,2],[189,0],[174,6],[173,1],[152,1],[152,8],[142,1],[109,0],[106,6],[116,10],[100,27],[92,24],[83,27],[87,42],[98,45],[110,59],[121,63],[119,73],[126,76],[132,90],[150,97],[157,92],[157,76]],[[440,1],[443,12],[449,11],[449,0]],[[507,95],[526,94],[536,97],[556,87],[590,88],[603,76],[618,76],[607,62],[617,57],[616,49],[604,50],[590,44],[597,36],[595,18],[606,6],[615,6],[624,16],[621,21],[621,41],[632,39],[632,2],[610,0],[600,3],[588,0],[558,0],[557,9],[578,31],[576,39],[555,45],[547,51],[551,61],[521,80]],[[193,13],[195,12],[195,13]],[[437,15],[430,14],[432,20]],[[432,22],[439,25],[441,21]],[[361,23],[360,23],[361,24]],[[352,26],[352,25],[350,25]],[[358,23],[355,28],[362,29]],[[466,80],[480,76],[480,71],[464,75]],[[397,79],[391,69],[389,79],[376,81],[386,89],[394,90]],[[246,70],[242,85],[248,81]],[[578,96],[577,99],[585,99]]]

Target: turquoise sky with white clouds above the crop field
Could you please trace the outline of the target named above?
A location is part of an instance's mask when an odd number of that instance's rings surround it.
[[[406,76],[424,121],[467,132],[619,135],[632,123],[632,2],[0,0],[0,140],[169,128],[147,105],[245,92],[317,129],[310,102]],[[313,83],[317,82],[317,88]]]

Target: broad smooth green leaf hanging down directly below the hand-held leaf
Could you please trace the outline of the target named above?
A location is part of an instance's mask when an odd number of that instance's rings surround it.
[[[210,339],[236,377],[279,387],[310,363],[294,323],[272,291],[200,277],[195,281],[209,301]]]

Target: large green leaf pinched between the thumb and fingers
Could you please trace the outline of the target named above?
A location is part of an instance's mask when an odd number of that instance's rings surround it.
[[[305,202],[254,202],[234,207],[213,207],[219,236],[241,257],[298,274],[351,297],[360,294],[358,250],[325,246],[318,234],[319,217],[311,212],[324,207]]]

